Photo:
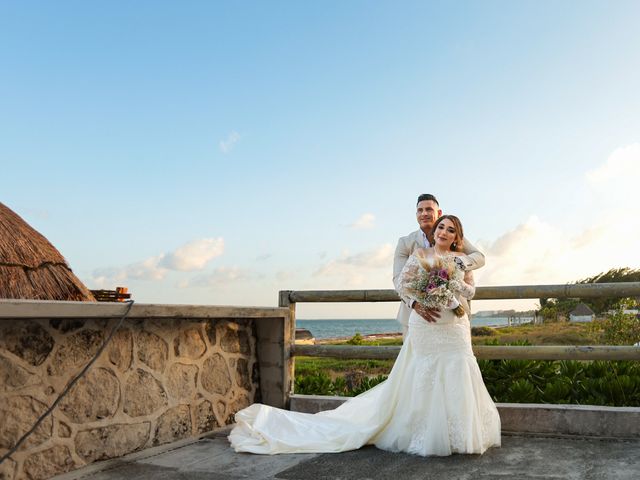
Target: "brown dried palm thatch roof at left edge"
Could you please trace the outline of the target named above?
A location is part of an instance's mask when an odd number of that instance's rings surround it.
[[[1,202],[0,298],[95,301],[60,252]]]

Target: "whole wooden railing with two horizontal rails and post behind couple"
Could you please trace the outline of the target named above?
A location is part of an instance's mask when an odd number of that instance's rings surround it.
[[[640,297],[640,282],[590,283],[570,285],[518,285],[476,288],[475,300],[526,298],[622,298]],[[394,359],[400,347],[351,345],[295,345],[295,307],[301,302],[397,302],[394,290],[283,290],[280,306],[288,307],[291,318],[291,355],[343,359]],[[480,359],[521,360],[640,360],[640,347],[634,346],[495,346],[475,345]],[[293,380],[294,361],[291,361]]]

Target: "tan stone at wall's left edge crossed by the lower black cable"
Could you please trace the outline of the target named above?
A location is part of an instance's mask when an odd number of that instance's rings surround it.
[[[0,448],[11,448],[27,433],[47,406],[28,396],[4,398],[0,402]],[[51,437],[53,421],[48,416],[22,444],[21,449],[40,445]]]

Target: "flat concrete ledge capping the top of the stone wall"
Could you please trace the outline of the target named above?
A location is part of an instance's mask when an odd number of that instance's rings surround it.
[[[0,300],[0,320],[20,318],[120,317],[127,305],[120,302],[57,302],[51,300]],[[219,305],[164,305],[135,303],[129,318],[282,318],[281,307]]]

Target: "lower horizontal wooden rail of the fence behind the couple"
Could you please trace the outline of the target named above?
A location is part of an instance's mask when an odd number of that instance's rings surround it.
[[[342,359],[395,359],[400,347],[295,345],[292,354]],[[640,347],[627,346],[494,346],[474,345],[479,359],[510,360],[640,360]]]

